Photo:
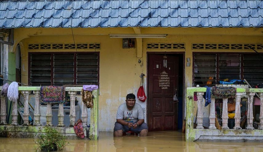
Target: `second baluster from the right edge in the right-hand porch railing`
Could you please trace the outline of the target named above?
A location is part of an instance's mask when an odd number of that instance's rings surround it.
[[[253,98],[255,95],[255,92],[248,92],[248,113],[247,113],[247,127],[246,129],[248,130],[254,130],[255,128],[253,127]],[[240,110],[239,110],[240,111]]]

